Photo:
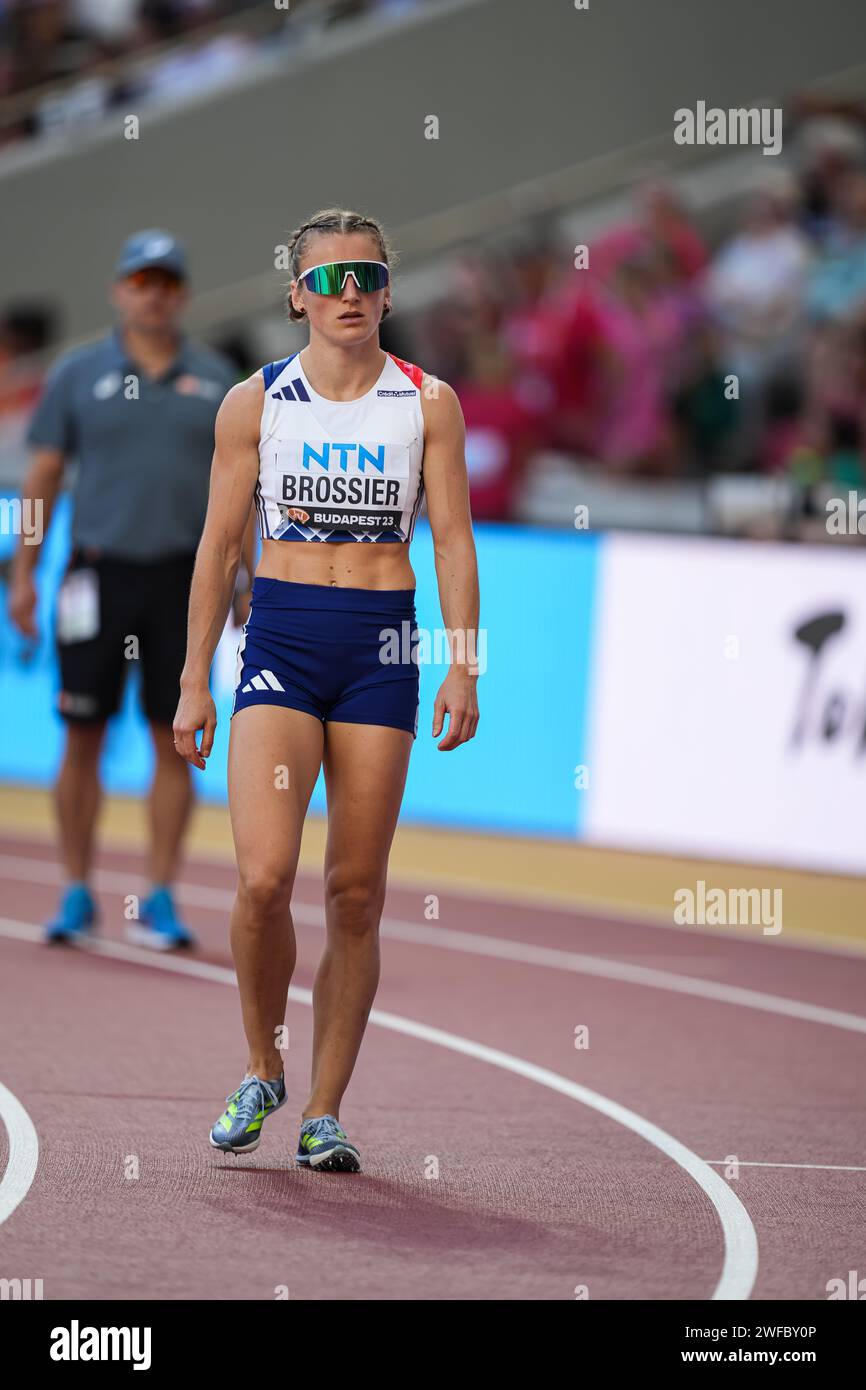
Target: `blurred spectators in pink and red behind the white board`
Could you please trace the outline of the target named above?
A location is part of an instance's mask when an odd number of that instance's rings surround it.
[[[796,165],[717,245],[653,179],[585,253],[538,227],[455,259],[405,346],[456,385],[477,517],[512,517],[542,452],[866,484],[866,106],[796,115]]]

